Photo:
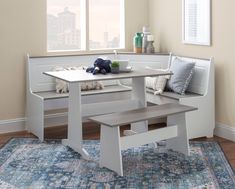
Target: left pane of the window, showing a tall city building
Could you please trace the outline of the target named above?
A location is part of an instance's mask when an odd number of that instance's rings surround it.
[[[80,0],[47,0],[47,49],[81,49]]]

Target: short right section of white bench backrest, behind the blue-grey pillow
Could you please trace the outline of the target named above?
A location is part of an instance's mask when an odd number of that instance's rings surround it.
[[[174,61],[176,56],[171,57],[171,62]],[[179,57],[179,56],[177,56]],[[179,57],[186,62],[195,62],[195,69],[192,80],[187,89],[188,92],[205,95],[212,84],[212,76],[214,76],[214,63],[212,59],[198,59],[189,57]]]

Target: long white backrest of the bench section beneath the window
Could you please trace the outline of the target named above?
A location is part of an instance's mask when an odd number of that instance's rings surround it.
[[[55,79],[43,74],[52,71],[56,66],[90,66],[98,57],[107,57],[111,60],[129,60],[133,67],[146,67],[146,65],[161,68],[168,61],[169,55],[134,55],[134,54],[95,54],[71,56],[30,57],[27,61],[27,85],[32,92],[55,90]],[[103,81],[104,85],[118,84],[116,80]]]

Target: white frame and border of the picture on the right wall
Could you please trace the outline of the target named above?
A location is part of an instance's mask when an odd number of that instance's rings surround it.
[[[188,28],[188,23],[186,22],[186,4],[187,2],[190,2],[193,0],[182,0],[182,42],[184,44],[194,44],[194,45],[205,45],[210,46],[211,45],[211,0],[203,0],[203,5],[205,8],[204,15],[205,17],[203,19],[203,22],[197,23],[196,27],[203,27],[205,30],[205,40],[200,40],[200,38],[197,39],[189,39],[189,36],[187,35],[186,28]],[[199,7],[200,8],[200,7]]]

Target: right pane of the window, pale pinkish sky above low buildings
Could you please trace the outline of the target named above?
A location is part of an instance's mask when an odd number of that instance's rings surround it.
[[[89,0],[90,49],[120,48],[121,0]]]

